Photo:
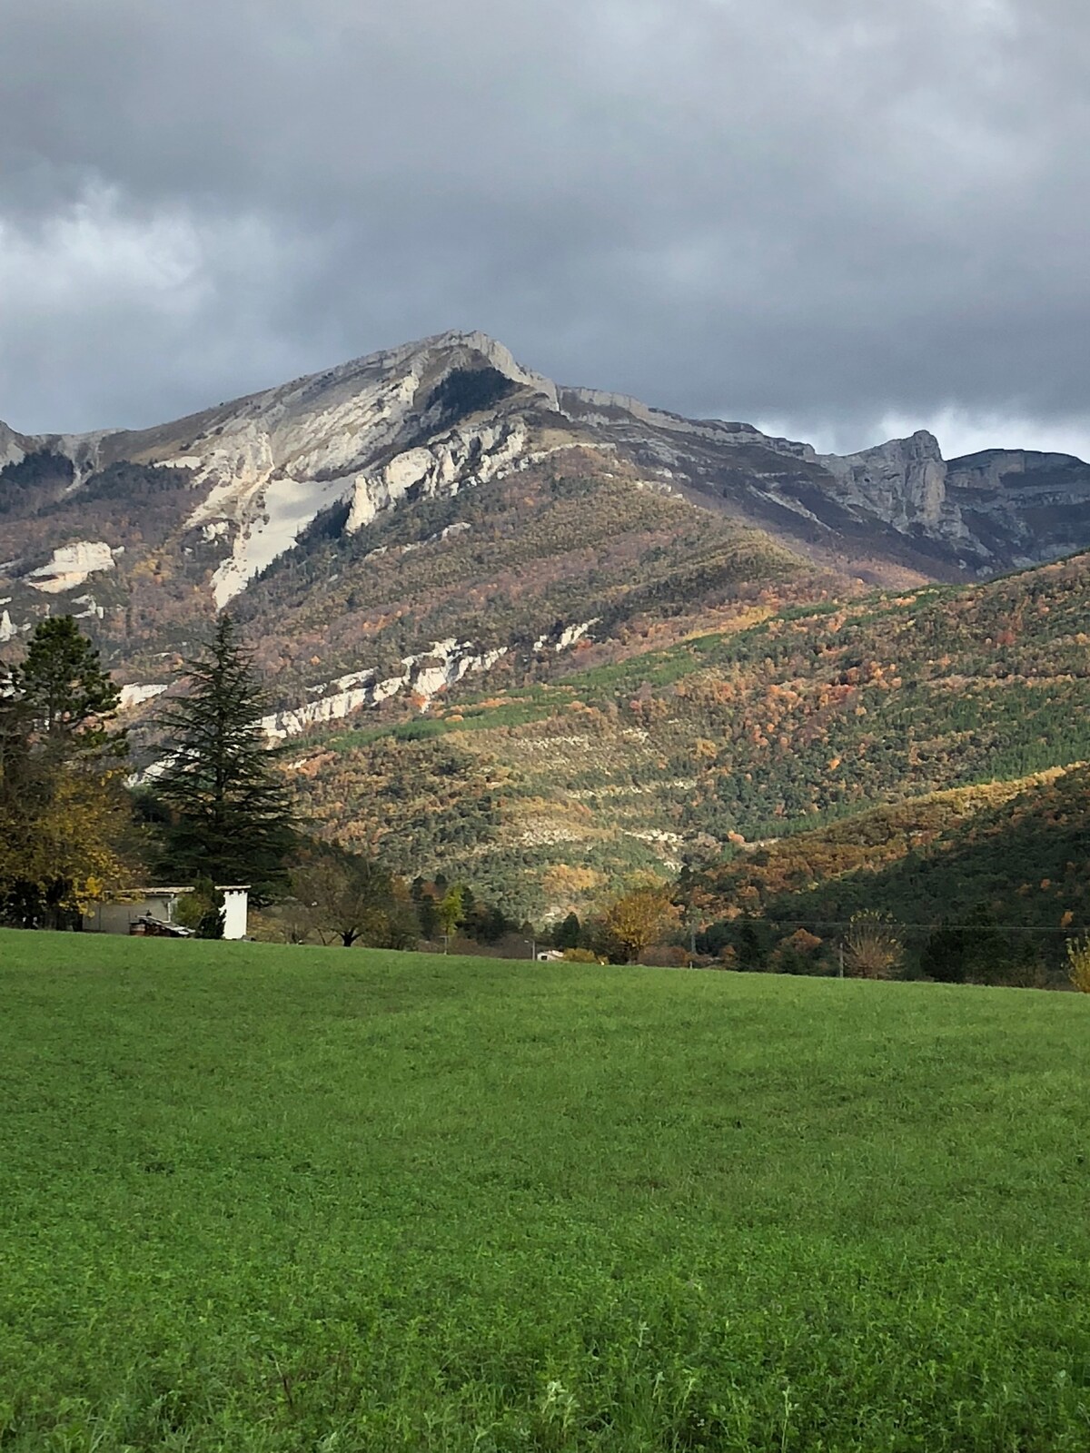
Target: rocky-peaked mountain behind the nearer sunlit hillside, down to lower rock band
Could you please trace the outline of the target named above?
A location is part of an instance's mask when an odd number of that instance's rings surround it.
[[[73,610],[129,687],[230,604],[294,732],[555,674],[708,612],[994,574],[1090,543],[1090,466],[917,433],[844,458],[564,388],[448,333],[154,429],[0,426],[0,639]]]

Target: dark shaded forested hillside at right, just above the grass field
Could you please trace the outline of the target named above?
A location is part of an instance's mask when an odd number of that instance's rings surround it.
[[[917,953],[936,927],[968,926],[997,962],[1055,968],[1090,921],[1089,844],[1084,766],[872,808],[734,850],[699,885],[705,942],[718,952],[737,939],[724,926],[763,918],[769,944],[799,927],[834,943],[855,915],[878,912]]]

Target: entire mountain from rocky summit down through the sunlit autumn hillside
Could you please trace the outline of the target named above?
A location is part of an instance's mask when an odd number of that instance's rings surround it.
[[[0,641],[77,615],[138,747],[230,606],[318,828],[520,915],[1090,758],[1089,465],[818,455],[480,333],[148,430],[0,426]]]

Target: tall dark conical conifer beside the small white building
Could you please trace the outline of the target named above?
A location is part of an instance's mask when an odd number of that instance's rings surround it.
[[[163,869],[250,883],[254,901],[267,901],[286,883],[294,819],[260,725],[266,700],[230,616],[185,673],[189,692],[160,716],[169,756],[153,790],[169,809]]]

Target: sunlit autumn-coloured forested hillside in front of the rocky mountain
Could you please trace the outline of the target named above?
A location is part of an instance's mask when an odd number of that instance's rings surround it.
[[[689,853],[1087,760],[1089,564],[735,618],[334,734],[301,747],[301,799],[331,834],[472,866],[541,914]]]

